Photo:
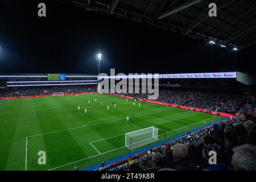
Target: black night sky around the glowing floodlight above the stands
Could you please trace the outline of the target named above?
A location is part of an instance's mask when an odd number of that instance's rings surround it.
[[[241,71],[255,74],[255,46],[230,51],[169,31],[77,7],[38,1],[0,1],[0,73],[186,73]]]

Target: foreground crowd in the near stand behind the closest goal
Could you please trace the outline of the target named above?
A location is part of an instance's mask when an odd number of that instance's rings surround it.
[[[127,171],[256,171],[256,123],[240,115],[187,134],[137,155],[132,164],[119,166]],[[195,143],[202,140],[199,146]],[[216,152],[216,163],[209,163]],[[211,160],[210,160],[211,161]]]

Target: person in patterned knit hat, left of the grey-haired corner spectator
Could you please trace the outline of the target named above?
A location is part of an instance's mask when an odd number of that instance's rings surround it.
[[[216,164],[209,164],[209,158],[212,156],[212,155],[209,155],[210,151],[214,151],[217,154]],[[220,160],[220,156],[219,156],[220,152],[221,152],[221,147],[217,143],[205,144],[203,147],[203,156],[206,159],[206,163],[201,167],[201,169],[203,171],[227,171],[228,166],[226,166],[226,164],[221,162]]]

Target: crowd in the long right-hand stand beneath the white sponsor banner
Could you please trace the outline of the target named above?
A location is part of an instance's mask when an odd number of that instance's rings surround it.
[[[123,95],[147,99],[150,94],[126,93]],[[245,100],[242,94],[233,92],[167,89],[159,90],[156,101],[234,114],[245,105]]]

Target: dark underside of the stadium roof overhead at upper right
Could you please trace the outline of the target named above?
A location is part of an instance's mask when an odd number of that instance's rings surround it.
[[[256,43],[256,2],[250,0],[56,0],[89,11],[162,28],[195,39],[217,39],[239,49]],[[209,17],[209,3],[217,17]]]

